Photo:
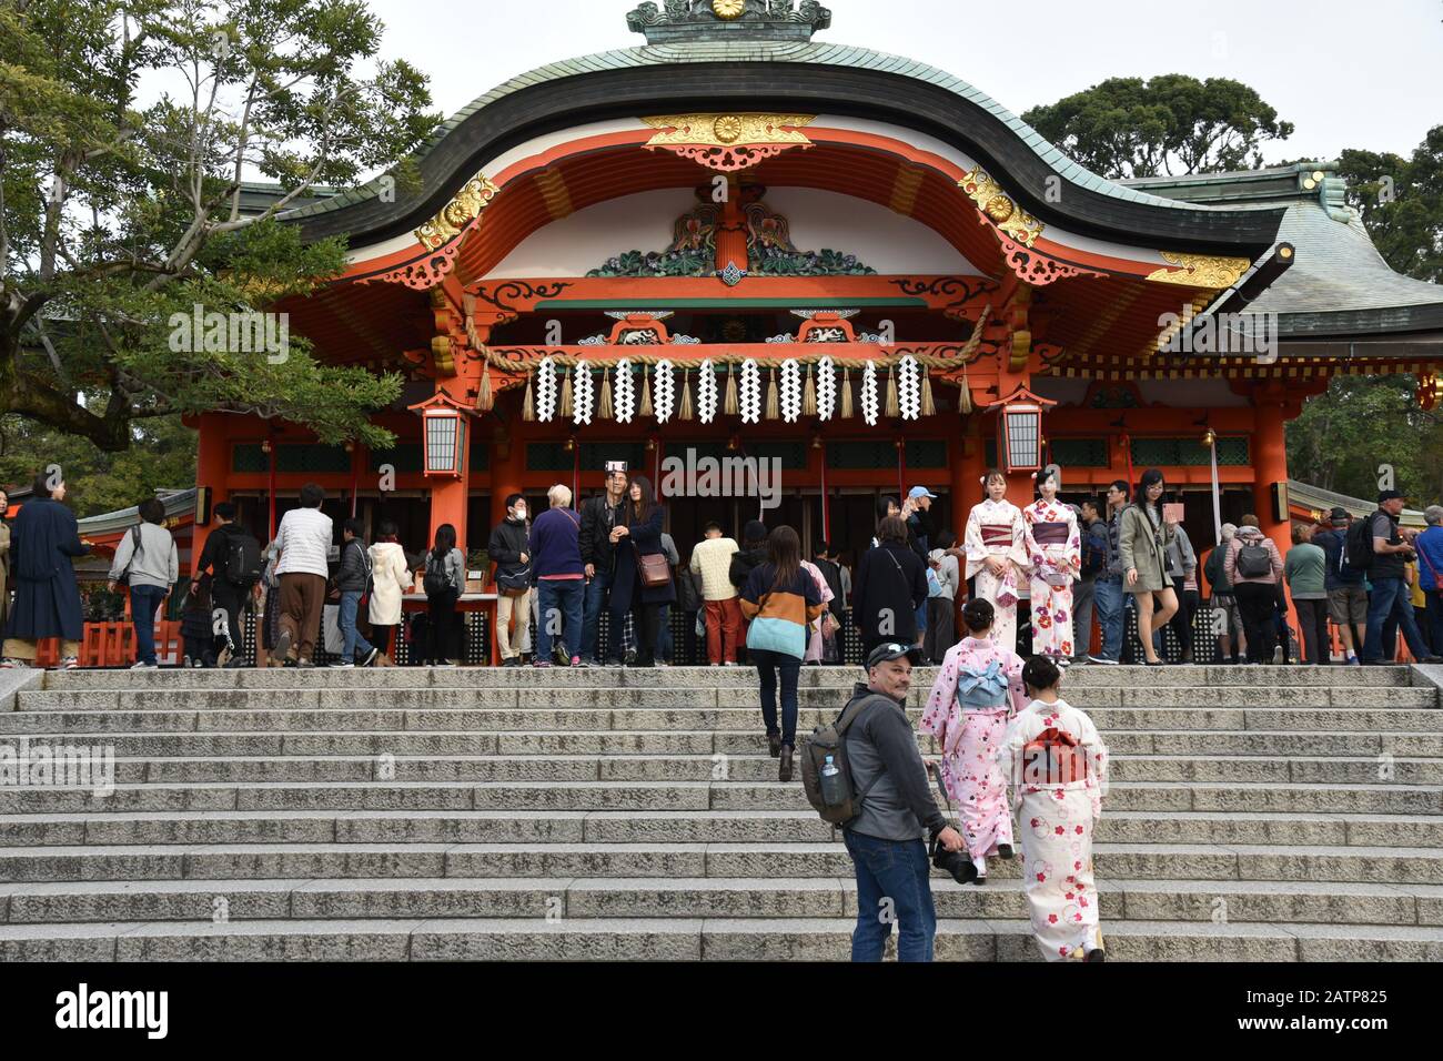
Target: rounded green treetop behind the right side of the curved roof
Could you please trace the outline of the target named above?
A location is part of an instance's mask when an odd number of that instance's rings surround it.
[[[1022,118],[1114,180],[1261,166],[1263,143],[1293,134],[1255,89],[1186,74],[1108,78]]]

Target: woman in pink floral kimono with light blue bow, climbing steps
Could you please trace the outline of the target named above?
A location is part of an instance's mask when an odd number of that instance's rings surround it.
[[[961,816],[977,883],[987,882],[990,856],[1012,857],[1007,775],[997,749],[1007,722],[1027,703],[1022,657],[988,637],[994,618],[987,601],[967,602],[968,637],[947,651],[922,712],[922,732],[942,746],[942,784]]]

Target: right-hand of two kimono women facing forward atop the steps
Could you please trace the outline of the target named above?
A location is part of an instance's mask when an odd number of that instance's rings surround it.
[[[1072,657],[1072,580],[1082,570],[1082,536],[1071,505],[1058,501],[1055,471],[1038,479],[1042,498],[1023,510],[1032,563],[1032,651],[1059,667]]]

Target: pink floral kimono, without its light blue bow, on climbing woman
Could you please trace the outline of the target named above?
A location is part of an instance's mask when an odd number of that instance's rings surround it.
[[[997,663],[1007,676],[1007,700],[996,710],[964,709],[957,686],[964,668],[986,670]],[[942,743],[942,784],[958,808],[967,852],[974,859],[1012,844],[1012,810],[1007,775],[997,762],[997,748],[1013,713],[1027,702],[1022,684],[1022,657],[990,638],[962,638],[948,650],[932,694],[922,712],[922,732]]]

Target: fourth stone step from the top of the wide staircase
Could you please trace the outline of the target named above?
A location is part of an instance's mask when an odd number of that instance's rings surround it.
[[[124,758],[244,758],[358,755],[752,755],[760,736],[750,732],[697,730],[556,730],[556,732],[304,732],[304,733],[104,733],[78,742],[76,733],[30,733],[29,746],[100,743]],[[1108,751],[1124,755],[1209,756],[1361,756],[1443,758],[1443,733],[1266,732],[1266,730],[1102,730]],[[922,733],[918,746],[938,752]],[[19,754],[19,738],[0,738],[0,749]]]

